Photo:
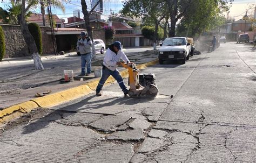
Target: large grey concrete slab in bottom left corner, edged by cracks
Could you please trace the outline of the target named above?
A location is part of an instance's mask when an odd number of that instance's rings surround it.
[[[83,126],[31,122],[1,133],[1,160],[6,162],[64,162],[102,137]],[[14,147],[15,146],[15,147]]]

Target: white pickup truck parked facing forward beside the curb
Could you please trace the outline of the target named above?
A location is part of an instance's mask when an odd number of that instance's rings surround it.
[[[183,64],[190,59],[191,45],[186,37],[166,38],[158,49],[159,63],[165,60],[181,60]]]

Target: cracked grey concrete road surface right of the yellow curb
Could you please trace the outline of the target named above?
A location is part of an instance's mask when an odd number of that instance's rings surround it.
[[[101,97],[35,110],[0,131],[1,161],[255,162],[255,54],[230,42],[148,67],[156,98],[111,84]]]

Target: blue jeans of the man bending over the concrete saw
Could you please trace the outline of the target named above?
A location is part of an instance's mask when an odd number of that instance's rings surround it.
[[[99,80],[98,86],[96,88],[96,93],[99,93],[100,90],[102,90],[104,83],[106,82],[107,78],[109,78],[110,75],[112,75],[114,77],[114,79],[117,80],[122,91],[124,93],[126,93],[128,91],[128,89],[126,88],[126,86],[124,84],[124,80],[123,80],[122,76],[119,74],[118,70],[115,69],[114,71],[112,71],[106,67],[102,71],[102,78],[100,78],[100,80]]]

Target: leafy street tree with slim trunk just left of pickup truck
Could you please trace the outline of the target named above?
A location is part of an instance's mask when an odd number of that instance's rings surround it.
[[[124,3],[123,15],[132,18],[142,18],[146,24],[154,25],[153,42],[156,49],[158,28],[165,18],[167,3],[163,1],[132,0]]]

